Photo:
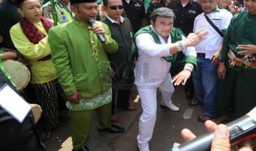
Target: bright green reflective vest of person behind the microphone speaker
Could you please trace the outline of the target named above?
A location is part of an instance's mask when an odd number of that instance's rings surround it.
[[[58,23],[63,24],[72,21],[74,14],[70,10],[69,0],[55,0],[54,2]],[[47,19],[53,19],[50,1],[43,5],[43,16]]]

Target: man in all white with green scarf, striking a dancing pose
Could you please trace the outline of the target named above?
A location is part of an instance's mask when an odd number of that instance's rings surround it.
[[[186,84],[197,64],[196,53],[192,46],[199,43],[207,33],[201,30],[190,34],[186,39],[181,30],[173,28],[175,14],[168,8],[158,8],[150,17],[151,25],[141,28],[135,34],[139,59],[134,69],[134,83],[137,85],[143,107],[137,137],[140,150],[149,150],[149,141],[156,121],[157,88],[162,94],[161,107],[179,111],[171,101],[174,91],[172,82],[175,82],[175,85]],[[171,63],[168,61],[174,61],[178,51],[183,51],[187,56],[186,65],[184,70],[172,80],[168,73]]]

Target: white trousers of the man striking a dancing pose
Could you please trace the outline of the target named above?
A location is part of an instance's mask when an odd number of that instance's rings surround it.
[[[140,150],[149,150],[149,141],[151,140],[156,121],[157,88],[159,88],[162,94],[162,103],[166,106],[170,106],[172,103],[171,97],[174,92],[174,88],[171,80],[171,75],[168,74],[164,82],[159,85],[137,86],[141,106],[143,108],[143,113],[139,119],[139,135],[137,136],[138,147]]]

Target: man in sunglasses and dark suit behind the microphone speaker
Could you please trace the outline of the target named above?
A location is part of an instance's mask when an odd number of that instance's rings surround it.
[[[130,104],[129,96],[132,89],[132,78],[126,80],[124,83],[122,80],[122,74],[126,68],[130,50],[133,43],[133,28],[128,18],[123,18],[123,2],[121,0],[104,0],[104,10],[107,15],[104,22],[108,25],[111,32],[111,37],[116,40],[118,44],[118,50],[114,54],[107,54],[108,60],[115,76],[112,78],[112,121],[119,121],[118,116],[115,114],[115,90],[118,91],[117,96],[117,108],[125,109],[129,111],[135,111],[138,107]]]

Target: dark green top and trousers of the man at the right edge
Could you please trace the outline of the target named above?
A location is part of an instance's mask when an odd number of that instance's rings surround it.
[[[220,62],[225,62],[225,79],[221,79],[218,86],[215,100],[215,114],[217,116],[229,114],[233,108],[231,119],[237,119],[248,113],[254,106],[256,85],[256,69],[245,66],[229,67],[228,50],[231,49],[236,57],[238,55],[236,47],[239,44],[256,45],[256,15],[250,15],[248,11],[236,14],[230,21],[227,28],[222,48],[220,51]],[[255,54],[254,54],[255,55]]]

